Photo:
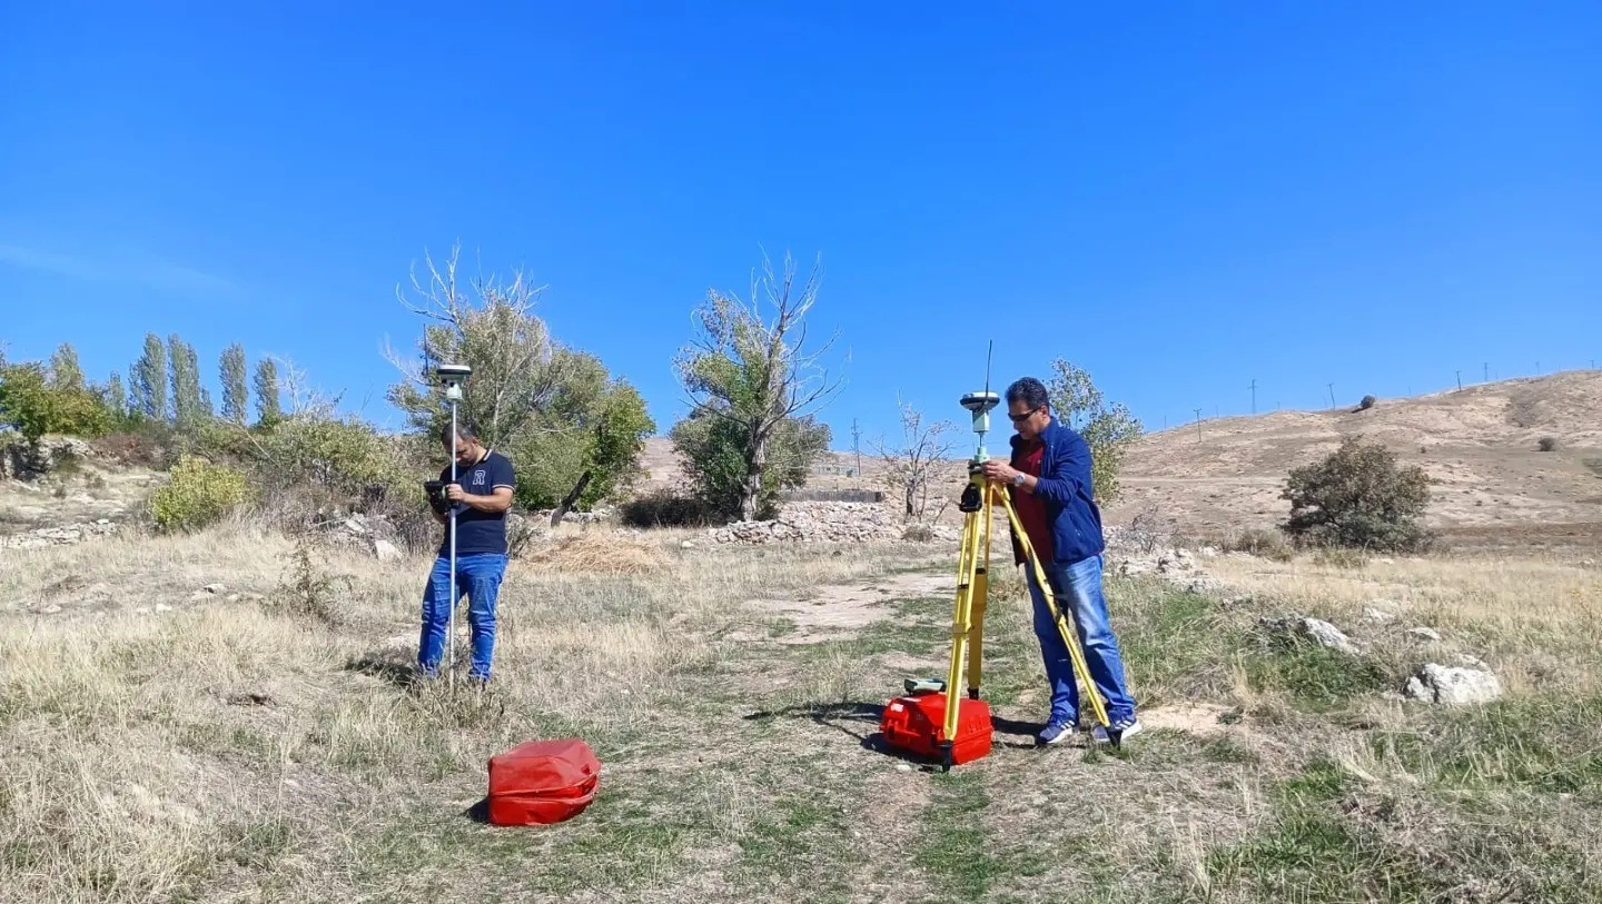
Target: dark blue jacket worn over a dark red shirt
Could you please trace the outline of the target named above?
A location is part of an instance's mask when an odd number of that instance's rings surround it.
[[[1077,430],[1059,422],[1056,418],[1046,426],[1040,438],[1046,450],[1040,458],[1040,477],[1035,485],[1035,498],[1046,506],[1046,517],[1051,520],[1051,546],[1054,558],[1072,565],[1093,555],[1101,555],[1107,549],[1102,538],[1101,509],[1091,488],[1091,446]],[[1024,440],[1012,435],[1012,467],[1024,464]],[[1014,504],[1020,486],[1012,486]],[[1012,558],[1024,562],[1024,547],[1012,534]]]

